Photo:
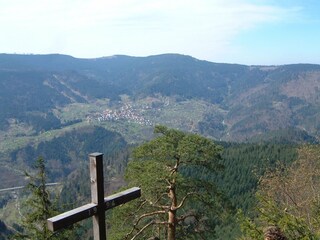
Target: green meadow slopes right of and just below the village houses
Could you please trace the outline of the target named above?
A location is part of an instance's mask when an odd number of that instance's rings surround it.
[[[95,121],[108,130],[121,133],[127,142],[137,143],[152,137],[153,128],[157,124],[186,131],[196,131],[199,121],[205,113],[218,111],[212,104],[199,100],[176,102],[173,98],[147,98],[132,102],[125,99],[126,104],[131,104],[133,109],[139,109],[139,114],[149,119],[152,125],[141,125],[132,121]],[[155,103],[153,107],[150,107]],[[149,108],[146,108],[149,106]]]

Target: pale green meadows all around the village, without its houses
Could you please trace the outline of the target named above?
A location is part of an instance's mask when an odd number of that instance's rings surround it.
[[[106,109],[118,109],[123,104],[131,104],[137,114],[149,119],[151,126],[141,125],[130,120],[102,121],[96,120],[95,115]],[[146,108],[146,106],[149,106]],[[32,129],[27,126],[13,124],[11,131],[4,133],[0,141],[0,152],[10,152],[27,144],[37,145],[42,141],[49,141],[67,131],[71,131],[87,125],[100,125],[108,130],[121,133],[129,143],[136,143],[151,137],[153,126],[163,124],[173,128],[180,128],[186,131],[195,131],[197,124],[202,120],[204,114],[214,111],[215,106],[204,101],[187,100],[175,101],[174,98],[158,97],[140,99],[136,102],[125,98],[117,107],[111,107],[108,99],[97,100],[88,104],[75,103],[55,110],[55,115],[66,123],[74,120],[81,122],[46,131],[38,135],[32,135]],[[91,120],[88,119],[91,117]]]

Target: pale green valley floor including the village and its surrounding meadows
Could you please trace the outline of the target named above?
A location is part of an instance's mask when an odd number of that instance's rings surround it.
[[[89,125],[116,130],[130,143],[141,142],[147,138],[133,140],[126,132],[131,132],[134,128],[140,131],[152,129],[157,124],[197,132],[197,125],[206,112],[223,112],[217,106],[199,100],[177,102],[175,98],[153,97],[134,102],[128,96],[123,98],[124,100],[112,105],[108,99],[99,99],[91,103],[73,103],[57,108],[54,115],[62,126],[39,133],[32,131],[31,126],[13,121],[7,131],[1,133],[0,151],[8,152],[27,144],[36,146],[65,132]],[[64,126],[65,123],[68,124]]]

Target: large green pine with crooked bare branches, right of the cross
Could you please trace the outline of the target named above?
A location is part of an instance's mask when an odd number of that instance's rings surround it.
[[[142,196],[113,211],[111,239],[208,239],[224,212],[220,192],[208,181],[222,168],[221,148],[164,126],[155,133],[129,162],[126,180],[140,186]]]

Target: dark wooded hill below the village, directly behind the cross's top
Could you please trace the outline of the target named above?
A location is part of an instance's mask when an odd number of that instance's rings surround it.
[[[48,180],[54,182],[60,181],[82,164],[87,166],[88,154],[96,151],[107,153],[107,165],[121,172],[126,162],[113,162],[110,157],[125,149],[127,143],[118,133],[101,127],[84,127],[38,145],[18,148],[9,154],[8,161],[19,168],[30,168],[34,160],[42,156],[50,169]]]

